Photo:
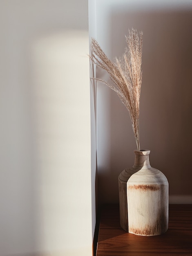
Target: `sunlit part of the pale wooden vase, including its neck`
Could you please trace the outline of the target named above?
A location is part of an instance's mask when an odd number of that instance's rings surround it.
[[[150,166],[150,150],[134,150],[134,168],[127,181],[128,232],[156,236],[168,229],[169,184],[165,175]]]

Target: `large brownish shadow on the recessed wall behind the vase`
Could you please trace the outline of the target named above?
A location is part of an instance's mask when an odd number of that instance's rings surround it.
[[[151,150],[150,163],[166,175],[170,195],[191,195],[192,9],[115,10],[110,24],[111,59],[123,54],[128,29],[143,31],[141,148]],[[115,93],[110,95],[110,173],[98,171],[98,180],[100,198],[118,202],[118,175],[134,164],[136,144],[127,110]]]

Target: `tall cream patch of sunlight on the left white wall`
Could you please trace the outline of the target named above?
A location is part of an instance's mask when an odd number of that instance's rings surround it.
[[[33,44],[39,246],[65,255],[92,250],[88,38],[71,30]]]

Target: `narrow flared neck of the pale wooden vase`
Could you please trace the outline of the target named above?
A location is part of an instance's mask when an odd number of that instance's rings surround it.
[[[150,168],[150,159],[149,159],[149,154],[150,150],[134,150],[135,153],[135,162],[133,168]]]

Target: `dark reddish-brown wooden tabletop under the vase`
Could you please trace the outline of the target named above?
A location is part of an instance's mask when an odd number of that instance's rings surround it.
[[[169,229],[160,236],[136,236],[119,224],[117,204],[104,205],[97,256],[192,256],[192,204],[170,204]]]

